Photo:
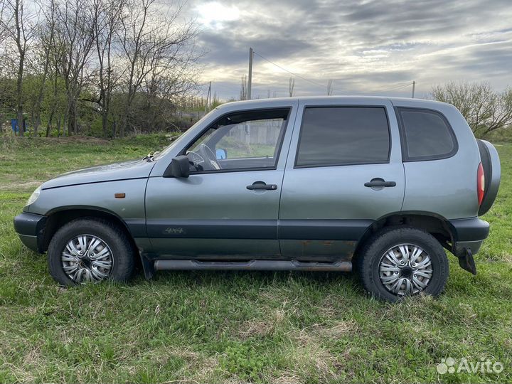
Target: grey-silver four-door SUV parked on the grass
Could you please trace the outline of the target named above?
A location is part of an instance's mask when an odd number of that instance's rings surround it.
[[[61,284],[157,270],[351,271],[437,295],[476,273],[500,163],[452,105],[290,97],[222,105],[164,151],[43,183],[14,226]]]

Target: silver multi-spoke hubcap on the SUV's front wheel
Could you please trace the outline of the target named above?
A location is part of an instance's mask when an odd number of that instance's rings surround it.
[[[61,255],[64,273],[73,282],[100,282],[110,276],[112,251],[95,235],[79,235],[68,241]]]

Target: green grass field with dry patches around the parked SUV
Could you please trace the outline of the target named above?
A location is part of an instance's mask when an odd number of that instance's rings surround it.
[[[14,215],[41,181],[164,139],[0,140],[0,383],[512,382],[512,144],[497,147],[479,274],[450,257],[442,297],[385,304],[337,273],[161,272],[62,289]],[[439,375],[448,357],[504,369]]]

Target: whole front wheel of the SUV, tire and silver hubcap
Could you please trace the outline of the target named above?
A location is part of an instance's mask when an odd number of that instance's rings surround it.
[[[112,280],[124,282],[134,269],[134,252],[127,235],[106,220],[70,221],[53,235],[48,266],[60,284],[71,286]]]

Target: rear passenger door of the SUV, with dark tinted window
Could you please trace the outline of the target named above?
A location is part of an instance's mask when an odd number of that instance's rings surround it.
[[[283,257],[350,260],[368,227],[402,207],[393,105],[377,98],[331,100],[299,104],[279,210]]]

